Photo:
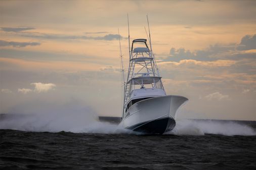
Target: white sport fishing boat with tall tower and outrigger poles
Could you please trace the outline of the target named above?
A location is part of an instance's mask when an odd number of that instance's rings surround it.
[[[166,95],[152,52],[149,23],[148,31],[150,48],[147,39],[133,40],[130,48],[129,30],[130,64],[127,81],[124,82],[123,110],[119,126],[147,134],[163,134],[174,129],[176,112],[188,99],[179,95]],[[120,55],[122,57],[121,47]]]

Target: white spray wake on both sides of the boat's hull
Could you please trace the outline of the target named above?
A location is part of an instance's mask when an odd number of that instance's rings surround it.
[[[32,132],[73,132],[101,134],[141,134],[116,124],[99,122],[93,114],[5,115],[0,119],[0,129]],[[256,131],[233,121],[177,120],[176,127],[164,135],[242,135],[253,136]]]

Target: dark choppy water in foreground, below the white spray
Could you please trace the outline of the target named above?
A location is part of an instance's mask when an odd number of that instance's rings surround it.
[[[0,169],[255,169],[256,136],[0,130]]]

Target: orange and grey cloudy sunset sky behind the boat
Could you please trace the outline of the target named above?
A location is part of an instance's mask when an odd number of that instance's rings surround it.
[[[121,116],[127,13],[178,119],[256,121],[256,1],[1,1],[0,114]]]

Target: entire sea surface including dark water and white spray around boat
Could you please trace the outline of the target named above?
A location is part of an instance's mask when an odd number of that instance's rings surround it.
[[[0,120],[0,169],[256,169],[256,132],[234,122],[179,120],[172,132],[145,135],[37,118]]]

